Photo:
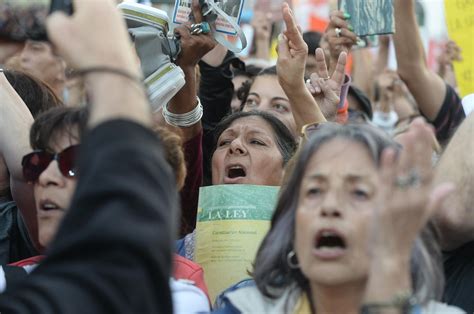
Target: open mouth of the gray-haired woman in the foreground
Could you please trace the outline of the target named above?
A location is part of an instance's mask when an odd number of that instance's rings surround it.
[[[344,237],[335,230],[321,230],[316,235],[314,248],[318,257],[334,259],[344,254],[346,241]]]

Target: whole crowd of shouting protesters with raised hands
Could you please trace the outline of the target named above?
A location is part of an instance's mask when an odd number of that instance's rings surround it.
[[[341,11],[303,33],[284,3],[276,63],[265,14],[249,58],[178,26],[186,83],[153,113],[116,2],[0,41],[1,313],[474,312],[470,56],[449,41],[427,66],[415,0],[368,55]],[[214,299],[198,197],[227,184],[280,192],[249,278]]]

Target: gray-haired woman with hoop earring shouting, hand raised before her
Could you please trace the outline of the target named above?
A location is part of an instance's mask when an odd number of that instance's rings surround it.
[[[403,150],[367,125],[304,134],[255,285],[228,293],[220,312],[461,312],[434,301],[443,277],[427,222],[452,185],[432,183],[429,126],[415,121]]]

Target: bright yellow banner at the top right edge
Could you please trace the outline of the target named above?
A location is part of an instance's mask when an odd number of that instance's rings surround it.
[[[474,92],[474,1],[444,1],[449,37],[462,49],[462,62],[454,62],[456,80],[462,96]]]

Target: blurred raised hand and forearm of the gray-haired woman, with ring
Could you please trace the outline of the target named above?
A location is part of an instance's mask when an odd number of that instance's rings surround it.
[[[413,293],[410,259],[415,239],[454,189],[452,183],[433,182],[432,136],[432,128],[419,118],[400,140],[399,157],[393,149],[383,152],[379,202],[369,233],[371,267],[365,296],[369,313],[405,312],[394,300]],[[391,306],[377,307],[387,303]]]

